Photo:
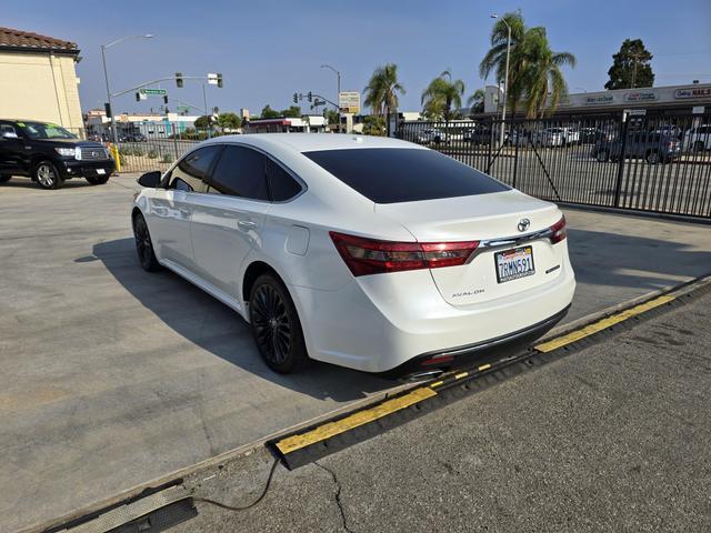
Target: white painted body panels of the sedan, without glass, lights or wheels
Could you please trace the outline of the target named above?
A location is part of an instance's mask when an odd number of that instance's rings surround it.
[[[263,151],[299,177],[306,190],[291,201],[269,203],[143,189],[134,209],[147,220],[157,259],[246,320],[244,273],[256,262],[269,264],[294,301],[312,359],[368,372],[388,371],[423,353],[524,330],[572,301],[575,282],[567,240],[555,244],[545,238],[533,240],[535,274],[501,284],[494,270],[499,249],[483,247],[463,265],[351,273],[330,231],[410,243],[477,240],[495,244],[503,238],[545,231],[561,220],[554,204],[513,189],[378,204],[302,153],[427,148],[394,139],[308,133],[221,137],[199,147],[213,143]],[[523,218],[530,227],[520,232],[517,224]]]

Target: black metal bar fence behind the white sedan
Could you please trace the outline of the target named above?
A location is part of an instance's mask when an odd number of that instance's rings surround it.
[[[711,114],[401,122],[397,135],[545,200],[711,218]]]

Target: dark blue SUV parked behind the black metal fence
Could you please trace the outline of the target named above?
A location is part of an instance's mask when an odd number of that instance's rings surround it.
[[[598,142],[591,155],[600,162],[619,161],[622,152],[620,139]],[[624,143],[625,159],[644,159],[650,164],[667,163],[681,153],[681,143],[672,135],[654,131],[628,133]]]

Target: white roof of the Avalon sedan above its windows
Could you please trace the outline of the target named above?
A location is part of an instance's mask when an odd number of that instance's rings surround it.
[[[399,139],[353,133],[249,133],[244,135],[217,137],[202,144],[229,142],[248,144],[264,150],[279,148],[293,152],[359,148],[410,148],[427,150],[423,147]]]

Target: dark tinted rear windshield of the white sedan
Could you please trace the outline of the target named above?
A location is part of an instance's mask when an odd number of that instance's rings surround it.
[[[356,148],[303,153],[375,203],[508,191],[509,187],[434,150]]]

